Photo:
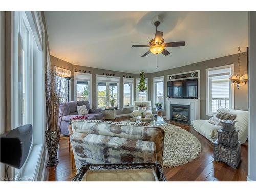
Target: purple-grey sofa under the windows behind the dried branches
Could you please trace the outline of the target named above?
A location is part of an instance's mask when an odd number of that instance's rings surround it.
[[[101,113],[101,109],[91,109],[90,108],[90,104],[88,101],[70,101],[65,103],[61,103],[60,104],[60,108],[59,108],[59,119],[58,119],[58,123],[60,124],[60,128],[61,128],[61,134],[63,135],[69,135],[69,131],[68,131],[68,125],[69,125],[69,121],[70,119],[72,119],[73,117],[78,116],[78,112],[77,112],[77,106],[82,106],[82,105],[86,105],[86,108],[88,110],[88,118],[89,120],[102,120],[103,119],[103,114]],[[62,117],[62,121],[61,121],[61,116]]]

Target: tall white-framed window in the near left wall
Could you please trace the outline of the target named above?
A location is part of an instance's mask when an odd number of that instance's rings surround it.
[[[35,23],[38,12],[15,11],[13,18],[11,73],[12,129],[32,124],[33,137],[22,168],[14,169],[15,179],[36,179],[42,158],[45,130],[44,51],[41,23]],[[40,14],[40,13],[39,13]],[[38,25],[37,25],[38,24]],[[40,31],[41,36],[38,34]]]

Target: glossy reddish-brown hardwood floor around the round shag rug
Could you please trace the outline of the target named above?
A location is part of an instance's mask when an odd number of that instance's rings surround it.
[[[114,121],[128,120],[129,117],[119,117]],[[182,166],[165,168],[164,174],[168,181],[246,181],[248,174],[248,142],[242,145],[242,159],[238,169],[233,169],[222,162],[213,161],[212,143],[197,133],[189,125],[170,122],[194,134],[201,143],[200,156]],[[56,169],[49,170],[49,181],[71,181],[76,170],[71,168],[71,154],[69,152],[68,137],[60,139],[58,149],[59,164]]]

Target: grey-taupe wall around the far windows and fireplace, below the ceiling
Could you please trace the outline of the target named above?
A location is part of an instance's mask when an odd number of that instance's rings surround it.
[[[109,70],[103,70],[103,69],[98,69],[98,68],[91,68],[91,67],[85,67],[85,66],[78,66],[78,65],[72,65],[69,62],[63,61],[61,59],[58,59],[54,56],[51,56],[51,63],[52,67],[54,65],[69,69],[72,71],[72,76],[73,72],[76,69],[76,71],[91,71],[92,73],[92,107],[95,108],[95,75],[100,74],[102,75],[103,73],[114,73],[115,76],[121,77],[121,85],[123,84],[123,75],[131,75],[134,76],[134,98],[136,98],[136,78],[139,78],[139,74],[130,74],[130,73],[123,73],[123,72],[117,72],[117,71],[109,71]],[[167,97],[167,75],[170,74],[175,74],[175,73],[182,73],[182,72],[187,72],[187,71],[194,71],[194,70],[200,70],[200,97],[201,97],[201,106],[200,106],[200,116],[201,119],[209,119],[209,116],[206,116],[206,93],[205,93],[205,70],[207,68],[212,68],[212,67],[217,67],[217,66],[223,66],[223,65],[229,65],[229,64],[234,64],[234,71],[238,72],[238,54],[234,55],[229,55],[225,57],[220,57],[216,59],[211,59],[207,61],[202,61],[198,63],[193,63],[191,65],[187,66],[182,66],[179,68],[174,68],[174,69],[168,69],[164,71],[159,71],[155,73],[150,73],[150,74],[145,74],[146,78],[148,78],[149,82],[149,89],[148,89],[148,99],[152,101],[153,103],[153,78],[154,77],[159,77],[159,76],[164,76],[164,92],[165,92],[165,98]],[[170,65],[171,68],[171,65]],[[247,71],[247,62],[246,62],[246,56],[241,55],[240,57],[240,73],[244,73],[244,71]],[[71,82],[71,98],[73,98],[73,81]],[[235,109],[240,109],[240,110],[248,110],[248,86],[247,84],[242,84],[241,88],[238,90],[236,87],[234,89],[234,108]],[[121,98],[121,106],[123,106],[123,86],[120,86],[120,98]],[[135,100],[135,99],[134,99]],[[118,114],[126,114],[126,113],[131,113],[132,108],[129,109],[124,109],[124,110],[118,110]],[[153,110],[154,112],[154,110]],[[166,115],[166,102],[163,110],[163,115]]]

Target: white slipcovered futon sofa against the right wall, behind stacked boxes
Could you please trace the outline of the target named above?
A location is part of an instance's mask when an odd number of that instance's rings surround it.
[[[235,127],[239,130],[238,132],[238,140],[241,143],[245,143],[248,138],[248,118],[249,113],[248,111],[242,110],[233,110],[233,109],[226,109],[226,108],[219,108],[219,111],[227,112],[231,114],[236,114],[237,117],[234,119],[236,121]],[[194,120],[191,121],[191,125],[195,128],[195,130],[202,134],[204,137],[209,139],[210,141],[215,141],[218,137],[217,131],[221,128],[221,126],[217,126],[208,122],[208,120]]]

